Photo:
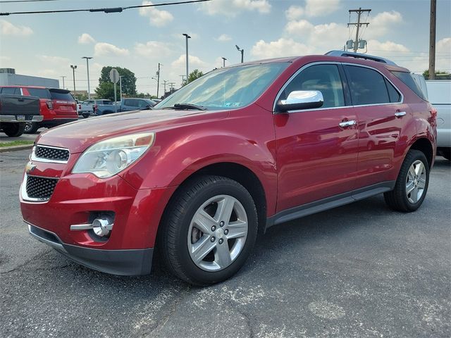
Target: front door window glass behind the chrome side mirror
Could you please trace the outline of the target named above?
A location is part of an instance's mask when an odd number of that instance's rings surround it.
[[[311,65],[305,68],[285,87],[280,99],[285,99],[291,92],[299,90],[319,90],[324,99],[321,108],[345,106],[345,95],[337,65]]]

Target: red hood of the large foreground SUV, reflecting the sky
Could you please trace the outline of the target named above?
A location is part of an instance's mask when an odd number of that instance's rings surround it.
[[[39,134],[36,143],[67,148],[71,154],[76,154],[102,139],[145,131],[159,132],[173,127],[223,119],[227,115],[228,111],[168,109],[114,113],[52,128]]]

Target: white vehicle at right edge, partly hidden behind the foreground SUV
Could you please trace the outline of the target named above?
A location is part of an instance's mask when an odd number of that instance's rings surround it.
[[[451,80],[428,80],[429,102],[437,109],[437,150],[451,161]]]

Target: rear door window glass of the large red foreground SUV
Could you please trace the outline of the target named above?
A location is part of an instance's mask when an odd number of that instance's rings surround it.
[[[381,73],[355,65],[345,65],[345,70],[354,106],[390,103],[385,77]]]

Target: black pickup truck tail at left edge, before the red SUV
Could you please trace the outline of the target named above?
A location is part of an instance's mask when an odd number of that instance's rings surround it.
[[[42,121],[39,97],[0,94],[0,130],[10,137],[23,134],[25,123]]]

